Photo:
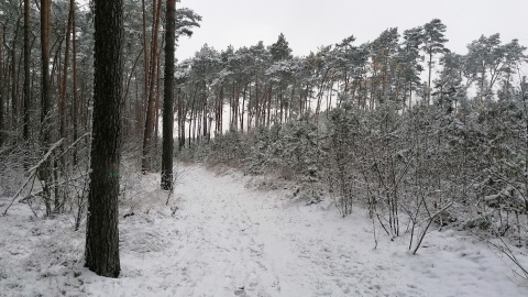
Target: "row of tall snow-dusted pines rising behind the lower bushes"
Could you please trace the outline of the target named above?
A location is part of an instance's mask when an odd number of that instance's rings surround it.
[[[464,98],[484,102],[518,89],[526,48],[517,40],[481,36],[460,55],[446,48],[446,30],[440,20],[402,34],[393,28],[372,42],[355,45],[350,36],[305,57],[292,55],[283,34],[270,46],[218,52],[206,44],[177,67],[179,146],[306,112],[317,123],[343,102],[365,110],[392,102],[402,113],[439,105],[455,112]]]

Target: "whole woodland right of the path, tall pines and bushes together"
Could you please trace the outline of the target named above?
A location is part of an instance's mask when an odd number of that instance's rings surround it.
[[[206,45],[178,65],[180,156],[296,180],[310,201],[326,188],[343,216],[361,204],[387,234],[411,232],[409,249],[432,223],[526,246],[526,47],[494,34],[460,55],[444,31],[432,20],[307,57],[284,35]]]

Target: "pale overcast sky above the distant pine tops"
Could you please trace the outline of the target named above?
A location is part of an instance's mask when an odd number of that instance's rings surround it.
[[[182,0],[204,19],[191,38],[183,37],[178,59],[207,43],[218,51],[233,45],[271,45],[285,34],[295,55],[316,52],[354,35],[356,44],[387,28],[398,32],[440,19],[448,26],[447,46],[464,54],[482,34],[501,33],[503,43],[518,38],[528,46],[528,0]]]

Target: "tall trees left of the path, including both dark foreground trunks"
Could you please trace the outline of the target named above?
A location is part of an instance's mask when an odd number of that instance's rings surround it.
[[[174,80],[178,37],[201,20],[175,3],[9,0],[0,7],[1,175],[26,170],[12,202],[28,202],[35,216],[75,211],[78,229],[87,213],[86,266],[100,275],[120,272],[122,141],[142,139],[142,172],[155,169],[162,94],[162,188],[173,187],[173,84],[162,81]]]

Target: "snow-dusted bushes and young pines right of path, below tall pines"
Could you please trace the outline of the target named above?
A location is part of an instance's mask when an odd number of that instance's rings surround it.
[[[329,193],[342,216],[362,206],[374,230],[391,237],[410,232],[414,252],[431,224],[507,237],[526,248],[528,85],[520,87],[485,107],[462,100],[457,112],[343,103],[324,123],[305,113],[249,133],[232,130],[184,148],[180,158],[275,176],[268,188],[294,182],[293,195],[307,202]],[[515,255],[507,241],[490,242]]]

